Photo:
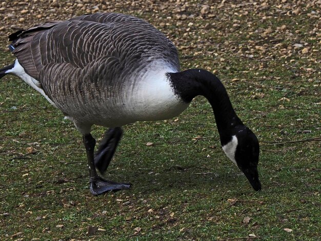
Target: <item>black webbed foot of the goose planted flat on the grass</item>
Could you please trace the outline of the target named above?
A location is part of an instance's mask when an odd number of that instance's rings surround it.
[[[90,192],[95,196],[108,191],[119,191],[123,189],[129,189],[130,187],[131,184],[129,183],[116,183],[109,180],[105,180],[102,177],[90,178],[89,184]]]

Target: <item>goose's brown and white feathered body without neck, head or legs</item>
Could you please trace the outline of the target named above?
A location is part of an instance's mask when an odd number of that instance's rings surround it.
[[[141,19],[85,15],[23,35],[11,45],[18,62],[9,72],[62,110],[83,134],[93,124],[168,119],[187,107],[165,75],[179,71],[175,46]]]

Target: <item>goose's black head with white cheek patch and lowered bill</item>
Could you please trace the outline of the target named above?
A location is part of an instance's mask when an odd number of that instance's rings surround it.
[[[257,164],[259,144],[255,134],[246,126],[233,128],[233,135],[222,148],[232,162],[245,174],[255,191],[261,189],[258,178]],[[221,140],[222,143],[222,140]]]

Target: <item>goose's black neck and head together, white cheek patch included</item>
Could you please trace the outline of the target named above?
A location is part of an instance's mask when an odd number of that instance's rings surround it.
[[[169,73],[168,77],[177,95],[185,102],[191,102],[196,95],[203,95],[208,99],[224,152],[243,171],[254,190],[260,190],[257,171],[258,140],[236,115],[227,91],[218,77],[202,69]]]

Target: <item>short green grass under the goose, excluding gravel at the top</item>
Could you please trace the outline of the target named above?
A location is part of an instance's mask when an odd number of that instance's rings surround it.
[[[177,118],[125,126],[107,176],[131,182],[132,189],[92,196],[81,134],[43,97],[7,76],[0,83],[0,239],[220,240],[254,234],[320,240],[320,142],[269,145],[320,136],[319,64],[276,53],[260,69],[258,53],[242,61],[230,53],[222,53],[224,62],[207,59],[207,67],[218,71],[236,112],[260,140],[262,191],[252,190],[224,155],[210,105],[196,97]],[[202,66],[209,57],[188,54],[182,53],[182,69]],[[2,64],[12,61],[6,51],[0,57]],[[309,74],[308,67],[317,71]],[[94,127],[93,135],[100,139],[104,131]],[[89,235],[91,226],[99,230]]]

